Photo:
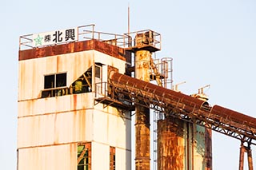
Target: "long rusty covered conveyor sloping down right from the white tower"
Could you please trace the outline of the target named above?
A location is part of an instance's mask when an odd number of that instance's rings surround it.
[[[118,102],[143,105],[165,113],[165,117],[178,117],[214,131],[232,136],[242,143],[256,145],[256,119],[219,105],[210,107],[206,101],[175,92],[133,77],[110,72],[109,85],[112,99]],[[122,94],[122,99],[117,96]]]

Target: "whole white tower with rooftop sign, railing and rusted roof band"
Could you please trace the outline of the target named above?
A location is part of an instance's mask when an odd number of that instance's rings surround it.
[[[94,25],[20,38],[19,170],[131,169],[130,108],[95,100],[109,69],[126,72],[126,38]]]

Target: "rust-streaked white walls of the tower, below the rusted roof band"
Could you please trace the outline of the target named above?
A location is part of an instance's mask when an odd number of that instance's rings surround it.
[[[41,97],[44,76],[66,73],[66,86],[93,67],[107,65],[125,73],[126,61],[96,50],[66,53],[19,61],[18,80],[18,170],[77,169],[78,143],[91,143],[91,169],[110,169],[110,146],[115,147],[115,169],[131,169],[130,113],[94,105],[90,93]]]

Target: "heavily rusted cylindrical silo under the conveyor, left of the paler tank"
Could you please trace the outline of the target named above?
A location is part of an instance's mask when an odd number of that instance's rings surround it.
[[[186,168],[184,132],[184,121],[175,118],[158,121],[158,170]]]

